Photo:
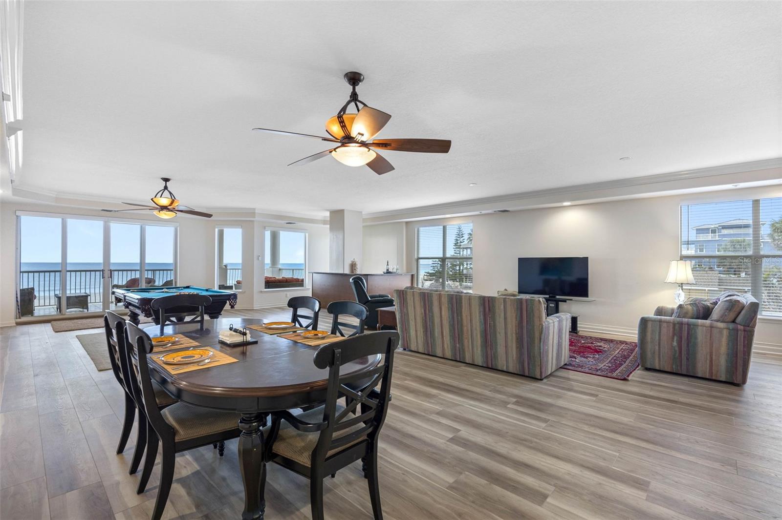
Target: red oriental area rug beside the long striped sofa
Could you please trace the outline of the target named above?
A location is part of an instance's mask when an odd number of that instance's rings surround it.
[[[630,379],[630,374],[638,368],[638,344],[571,334],[570,361],[562,368],[612,379]]]

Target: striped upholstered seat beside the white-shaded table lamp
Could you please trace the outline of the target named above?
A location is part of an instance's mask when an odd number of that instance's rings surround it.
[[[673,318],[676,308],[667,306],[658,307],[653,316],[641,318],[640,365],[737,385],[747,383],[759,304],[751,294],[741,297],[747,303],[734,322]]]

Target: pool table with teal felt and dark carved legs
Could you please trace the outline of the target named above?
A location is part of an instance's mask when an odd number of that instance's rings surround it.
[[[211,319],[220,318],[225,304],[231,305],[231,308],[236,307],[237,295],[230,290],[217,290],[206,289],[205,287],[195,287],[193,285],[181,285],[175,287],[141,287],[135,289],[116,289],[111,290],[111,294],[114,297],[114,301],[121,303],[130,312],[130,321],[138,325],[138,317],[144,315],[147,318],[152,318],[157,325],[159,319],[152,312],[152,300],[155,298],[170,296],[171,294],[178,293],[197,293],[206,294],[206,296],[212,298],[211,305],[207,305],[204,308],[204,313],[209,315]]]

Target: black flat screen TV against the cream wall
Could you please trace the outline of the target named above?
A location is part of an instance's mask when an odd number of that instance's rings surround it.
[[[589,257],[518,258],[518,292],[589,297]]]

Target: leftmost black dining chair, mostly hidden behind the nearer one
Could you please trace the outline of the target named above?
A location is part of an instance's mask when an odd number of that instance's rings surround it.
[[[117,454],[125,451],[127,438],[133,429],[134,415],[138,415],[138,430],[136,432],[136,446],[131,458],[131,467],[128,472],[133,475],[138,471],[147,438],[147,422],[144,407],[139,405],[140,399],[135,395],[135,377],[131,373],[127,359],[127,344],[125,343],[125,319],[115,312],[106,311],[103,316],[103,328],[106,329],[106,344],[109,347],[109,362],[114,376],[122,386],[125,393],[125,416],[120,433],[120,443],[117,444]],[[152,385],[158,408],[166,408],[177,402],[157,383]]]

